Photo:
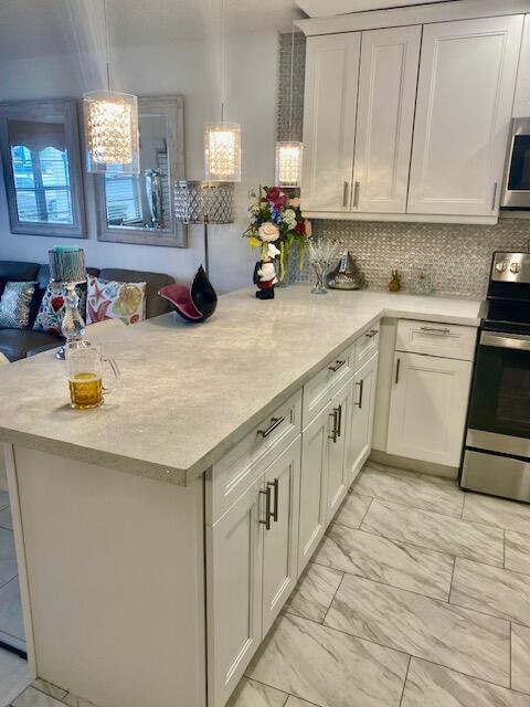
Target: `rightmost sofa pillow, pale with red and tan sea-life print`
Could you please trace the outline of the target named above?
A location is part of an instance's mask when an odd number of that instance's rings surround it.
[[[146,283],[118,283],[88,277],[86,323],[121,319],[136,324],[146,318]]]

